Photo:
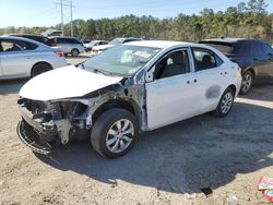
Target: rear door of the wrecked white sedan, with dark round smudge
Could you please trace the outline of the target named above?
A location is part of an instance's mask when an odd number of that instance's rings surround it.
[[[214,110],[229,85],[230,68],[212,50],[192,48],[201,112]]]

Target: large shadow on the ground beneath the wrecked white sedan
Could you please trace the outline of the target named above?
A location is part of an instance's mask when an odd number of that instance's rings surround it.
[[[37,157],[114,186],[121,180],[167,192],[200,193],[228,184],[237,173],[273,165],[272,116],[273,109],[235,102],[226,118],[207,113],[143,133],[120,158],[103,158],[88,141],[71,142]],[[263,121],[257,120],[261,117]]]

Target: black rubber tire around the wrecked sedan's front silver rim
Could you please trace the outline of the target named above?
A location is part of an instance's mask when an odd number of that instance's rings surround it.
[[[107,142],[109,143],[114,138],[124,137],[122,135],[122,132],[127,132],[127,131],[121,131],[122,126],[118,131],[116,131],[116,132],[119,132],[119,135],[109,134],[109,132],[114,130],[115,124],[118,123],[119,121],[121,121],[122,123],[122,120],[130,121],[131,123],[129,124],[129,126],[133,128],[133,134],[126,135],[127,138],[130,138],[130,143],[126,145],[124,142],[129,142],[129,141],[119,138],[119,140],[114,141],[111,144],[107,145]],[[104,157],[116,158],[116,157],[123,156],[133,146],[134,137],[135,137],[135,134],[138,133],[136,129],[138,129],[136,121],[135,121],[134,116],[131,112],[124,109],[118,109],[118,108],[109,109],[105,111],[102,116],[99,116],[98,119],[94,123],[94,126],[91,133],[92,146],[98,154],[100,154]],[[111,138],[109,140],[109,137]],[[124,146],[124,149],[121,148],[121,141]],[[111,147],[114,148],[116,144],[118,144],[117,146],[120,147],[122,150],[120,152],[110,150],[110,145],[114,145]]]

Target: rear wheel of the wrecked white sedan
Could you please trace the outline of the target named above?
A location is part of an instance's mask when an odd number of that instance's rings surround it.
[[[224,94],[222,95],[222,97],[219,99],[219,102],[218,102],[216,109],[214,111],[212,111],[212,113],[216,117],[219,117],[219,118],[227,116],[229,113],[229,111],[232,110],[232,107],[234,104],[234,96],[235,96],[234,91],[230,87],[226,88],[226,91],[224,92]],[[226,109],[224,109],[223,104],[225,104]]]

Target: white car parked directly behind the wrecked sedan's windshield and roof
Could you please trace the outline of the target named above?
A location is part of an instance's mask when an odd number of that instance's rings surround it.
[[[135,37],[128,37],[128,38],[115,38],[111,41],[109,41],[109,44],[107,45],[102,45],[102,46],[94,46],[92,48],[92,52],[91,56],[96,56],[105,50],[107,50],[108,48],[111,48],[114,46],[118,46],[124,43],[130,43],[130,41],[136,41],[136,40],[142,40],[142,38],[135,38]]]

